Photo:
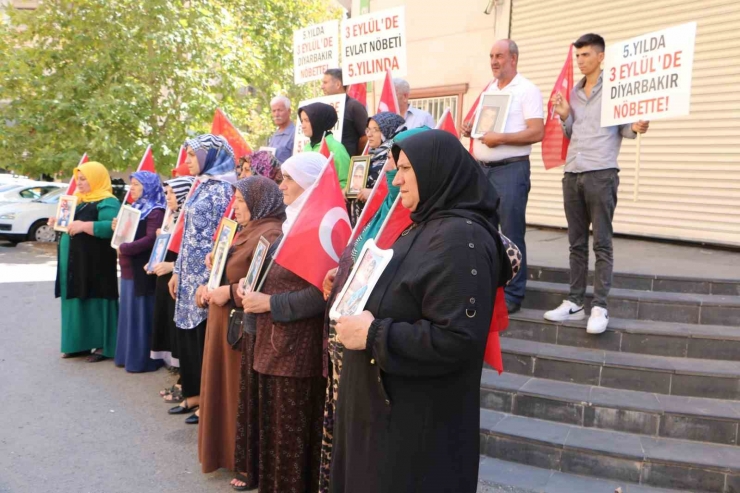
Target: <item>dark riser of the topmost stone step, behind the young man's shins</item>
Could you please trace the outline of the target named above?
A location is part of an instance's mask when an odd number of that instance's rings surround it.
[[[533,281],[570,283],[570,269],[562,267],[527,266],[527,277]],[[594,272],[588,273],[588,284],[593,286]],[[737,279],[697,279],[662,275],[629,274],[615,272],[612,287],[640,291],[663,291],[670,293],[697,293],[740,296],[740,281]]]

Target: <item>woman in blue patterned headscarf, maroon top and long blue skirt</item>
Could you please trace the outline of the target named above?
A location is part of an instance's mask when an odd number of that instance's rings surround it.
[[[132,207],[141,215],[135,225],[134,240],[119,247],[121,265],[121,311],[118,318],[116,366],[131,373],[155,371],[161,360],[150,357],[154,293],[157,280],[147,275],[144,266],[149,262],[157,229],[162,225],[166,201],[159,175],[137,171],[131,175]],[[118,219],[113,220],[116,229]]]

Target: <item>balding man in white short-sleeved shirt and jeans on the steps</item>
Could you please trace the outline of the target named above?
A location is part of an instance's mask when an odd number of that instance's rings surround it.
[[[545,124],[542,119],[542,93],[529,80],[517,73],[519,48],[510,39],[497,41],[490,53],[495,80],[487,92],[511,94],[509,113],[503,132],[486,132],[473,141],[473,157],[486,170],[488,181],[501,199],[498,219],[501,232],[522,252],[522,266],[506,287],[509,313],[521,308],[527,287],[526,231],[529,198],[529,154],[532,144],[542,141]],[[473,122],[463,123],[463,135],[470,137]]]

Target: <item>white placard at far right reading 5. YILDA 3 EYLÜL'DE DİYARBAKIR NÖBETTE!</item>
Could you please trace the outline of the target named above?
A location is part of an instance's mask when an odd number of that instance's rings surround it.
[[[601,126],[689,114],[696,22],[606,48]]]

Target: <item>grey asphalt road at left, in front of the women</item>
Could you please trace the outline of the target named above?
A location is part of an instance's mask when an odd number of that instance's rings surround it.
[[[167,414],[166,370],[60,358],[55,274],[53,245],[0,242],[0,492],[233,491],[200,472],[197,426]]]

